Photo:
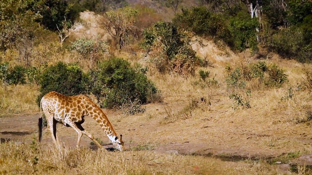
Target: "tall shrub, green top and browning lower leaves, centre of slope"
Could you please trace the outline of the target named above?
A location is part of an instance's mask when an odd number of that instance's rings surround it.
[[[149,60],[160,71],[193,74],[198,59],[189,42],[193,34],[172,23],[156,22],[144,30],[144,46],[154,52]]]

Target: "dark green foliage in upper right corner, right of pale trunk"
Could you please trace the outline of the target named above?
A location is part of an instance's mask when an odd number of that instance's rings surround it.
[[[265,11],[275,9],[274,6],[265,6]],[[294,58],[300,62],[311,62],[312,60],[312,2],[289,0],[287,11],[276,16],[271,26],[279,26],[287,22],[288,27],[279,31],[265,29],[265,44],[270,51],[274,51],[284,58]],[[271,10],[271,13],[276,13]],[[269,14],[267,14],[269,16]],[[270,21],[271,20],[271,21]]]

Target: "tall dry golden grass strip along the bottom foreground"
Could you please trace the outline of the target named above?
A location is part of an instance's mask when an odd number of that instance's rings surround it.
[[[28,144],[0,145],[1,174],[30,174],[34,154]],[[157,154],[147,151],[101,152],[66,149],[60,157],[53,149],[38,154],[38,174],[276,174],[267,163],[222,162],[200,156]]]

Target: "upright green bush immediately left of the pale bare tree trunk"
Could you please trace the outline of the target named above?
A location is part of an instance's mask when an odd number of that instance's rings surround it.
[[[256,34],[256,27],[259,26],[258,18],[251,18],[247,12],[241,11],[230,19],[229,25],[236,50],[258,49]]]

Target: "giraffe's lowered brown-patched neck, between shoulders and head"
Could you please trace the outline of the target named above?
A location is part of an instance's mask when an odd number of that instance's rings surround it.
[[[103,111],[95,110],[93,114],[89,112],[89,116],[92,117],[96,122],[100,124],[104,132],[106,133],[107,137],[110,139],[111,142],[115,142],[115,137],[117,136],[113,126],[110,124],[110,121],[103,113]]]

